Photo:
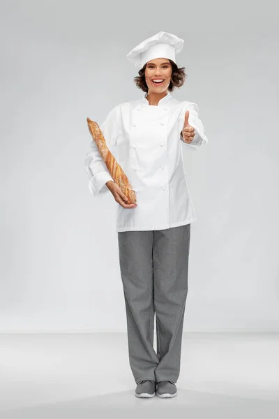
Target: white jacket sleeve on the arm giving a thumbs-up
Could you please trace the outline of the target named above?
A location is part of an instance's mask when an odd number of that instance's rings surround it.
[[[185,142],[183,139],[183,136],[181,135],[183,126],[184,126],[184,119],[185,119],[185,112],[186,110],[189,111],[189,119],[188,122],[193,128],[195,129],[195,136],[192,140],[192,142]],[[207,144],[209,141],[208,138],[205,135],[204,132],[204,126],[202,124],[202,121],[199,119],[199,108],[197,106],[197,103],[194,102],[183,102],[181,112],[179,114],[179,133],[180,133],[180,139],[183,141],[183,143],[192,149],[199,149],[199,147],[202,144]]]

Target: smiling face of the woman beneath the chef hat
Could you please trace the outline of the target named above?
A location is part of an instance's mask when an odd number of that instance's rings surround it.
[[[172,77],[172,64],[167,58],[156,58],[147,61],[144,77],[149,89],[149,93],[163,93],[169,87]],[[158,80],[160,82],[154,82]]]

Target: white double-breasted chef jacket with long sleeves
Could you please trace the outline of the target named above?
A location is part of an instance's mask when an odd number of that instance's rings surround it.
[[[186,110],[195,128],[189,144],[181,135]],[[100,129],[137,197],[134,208],[117,203],[116,231],[163,230],[196,221],[182,153],[182,147],[198,149],[208,142],[196,103],[179,102],[168,92],[158,105],[149,105],[144,94],[116,105]],[[110,191],[105,183],[114,179],[93,139],[84,163],[89,191],[98,198],[104,196]]]

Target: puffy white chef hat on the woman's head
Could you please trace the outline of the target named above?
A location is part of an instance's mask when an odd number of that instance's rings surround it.
[[[158,34],[147,38],[131,50],[126,56],[135,66],[142,68],[147,61],[155,58],[168,58],[175,61],[175,54],[181,52],[183,39],[173,34],[160,31]]]

